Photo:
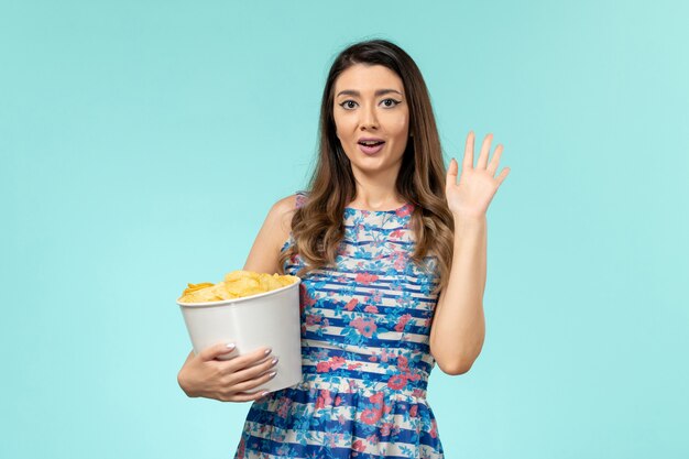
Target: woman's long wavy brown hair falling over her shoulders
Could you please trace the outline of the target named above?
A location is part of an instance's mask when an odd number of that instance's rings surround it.
[[[320,105],[318,162],[308,185],[308,199],[292,218],[294,244],[282,252],[284,263],[298,253],[305,263],[298,275],[335,263],[344,236],[342,215],[354,199],[357,186],[351,164],[337,138],[335,81],[354,64],[383,65],[404,85],[409,106],[409,133],[396,181],[397,194],[414,205],[412,229],[416,247],[412,260],[423,267],[424,258],[437,258],[440,282],[447,285],[452,260],[453,219],[445,198],[445,163],[430,97],[420,70],[400,46],[385,40],[356,43],[332,63]]]

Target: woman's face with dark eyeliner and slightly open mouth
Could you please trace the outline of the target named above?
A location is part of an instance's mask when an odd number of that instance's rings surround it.
[[[397,74],[382,65],[352,65],[335,81],[332,110],[337,136],[354,174],[396,176],[409,130],[409,109]]]

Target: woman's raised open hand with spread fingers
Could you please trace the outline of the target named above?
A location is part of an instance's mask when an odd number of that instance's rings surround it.
[[[493,134],[488,134],[483,140],[479,162],[473,167],[473,131],[469,132],[459,184],[457,184],[459,165],[456,159],[452,159],[447,172],[445,196],[456,220],[484,218],[488,206],[491,204],[495,192],[497,192],[497,187],[510,173],[510,167],[504,167],[500,175],[495,177],[502,145],[499,144],[495,147],[493,159],[490,163],[488,162]]]

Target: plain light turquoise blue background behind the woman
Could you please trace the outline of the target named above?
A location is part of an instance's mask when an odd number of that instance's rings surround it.
[[[383,37],[419,65],[446,159],[492,132],[512,168],[483,352],[430,378],[447,457],[689,457],[688,13],[0,1],[0,456],[233,455],[249,405],[179,390],[175,299],[243,265],[306,184],[332,58]]]

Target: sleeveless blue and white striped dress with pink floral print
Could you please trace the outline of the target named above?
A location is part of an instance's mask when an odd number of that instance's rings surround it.
[[[344,209],[335,266],[299,285],[304,379],[252,404],[236,459],[444,458],[426,401],[437,266],[411,260],[413,210]]]

